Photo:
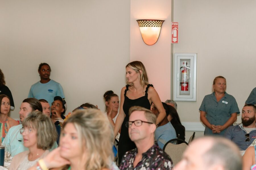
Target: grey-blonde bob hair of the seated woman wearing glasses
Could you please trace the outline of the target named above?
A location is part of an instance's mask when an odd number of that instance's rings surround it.
[[[32,111],[22,122],[23,128],[36,129],[37,148],[48,150],[57,139],[57,131],[51,119],[40,111]]]

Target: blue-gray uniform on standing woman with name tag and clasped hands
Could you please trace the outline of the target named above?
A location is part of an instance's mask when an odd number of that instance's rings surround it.
[[[215,92],[206,95],[199,108],[200,111],[206,112],[206,118],[212,125],[224,125],[231,117],[232,113],[239,114],[236,99],[225,92],[225,96],[217,102]],[[205,135],[224,135],[226,129],[220,133],[212,133],[212,130],[205,127]]]

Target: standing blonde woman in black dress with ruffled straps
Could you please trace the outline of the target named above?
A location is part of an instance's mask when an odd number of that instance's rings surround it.
[[[129,121],[130,107],[141,106],[150,109],[151,103],[154,103],[159,111],[157,124],[165,117],[164,107],[153,85],[148,83],[146,69],[141,61],[133,61],[126,65],[126,78],[127,85],[121,90],[120,110],[114,128],[115,136],[121,128],[118,145],[119,163],[125,152],[136,147],[129,138],[128,128],[125,126]]]

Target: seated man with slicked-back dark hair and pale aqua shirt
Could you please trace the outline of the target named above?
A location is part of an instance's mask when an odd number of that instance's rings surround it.
[[[20,112],[19,112],[20,122],[22,122],[28,116],[28,114],[31,113],[32,111],[41,111],[41,112],[43,111],[40,101],[38,101],[35,98],[24,99],[20,105]],[[28,148],[26,148],[23,145],[23,137],[20,133],[21,128],[22,128],[22,124],[11,127],[7,135],[5,136],[5,139],[3,140],[3,143],[11,146],[12,157],[15,156],[16,154],[19,154],[20,152],[24,152],[28,150]],[[55,142],[51,150],[57,147],[58,145]]]

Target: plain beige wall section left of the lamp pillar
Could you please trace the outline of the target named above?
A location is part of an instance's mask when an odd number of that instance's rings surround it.
[[[18,118],[41,62],[61,83],[68,110],[85,102],[104,111],[103,94],[120,95],[130,61],[130,2],[0,1],[0,68]]]

